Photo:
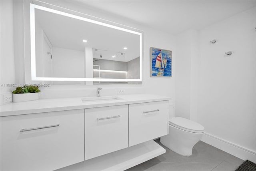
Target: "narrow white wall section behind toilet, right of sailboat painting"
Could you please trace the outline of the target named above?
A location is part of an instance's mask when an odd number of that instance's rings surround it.
[[[175,115],[196,121],[199,65],[199,31],[177,35]]]

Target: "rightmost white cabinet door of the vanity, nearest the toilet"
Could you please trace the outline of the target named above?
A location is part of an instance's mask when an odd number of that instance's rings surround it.
[[[168,101],[129,105],[129,147],[168,134]]]

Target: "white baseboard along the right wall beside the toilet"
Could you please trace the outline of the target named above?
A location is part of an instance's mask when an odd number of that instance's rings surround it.
[[[224,139],[218,138],[214,135],[204,133],[201,141],[210,144],[218,149],[221,149],[227,153],[230,153],[240,159],[250,160],[256,163],[256,152],[226,141]]]

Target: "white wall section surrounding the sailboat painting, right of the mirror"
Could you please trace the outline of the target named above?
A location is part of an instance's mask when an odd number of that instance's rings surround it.
[[[171,34],[144,28],[144,86],[146,93],[166,95],[175,99],[176,38]],[[172,50],[172,77],[150,77],[150,47]]]

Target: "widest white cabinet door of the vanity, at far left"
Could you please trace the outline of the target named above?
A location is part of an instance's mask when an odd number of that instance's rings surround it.
[[[1,170],[47,171],[81,161],[84,109],[1,117]]]

